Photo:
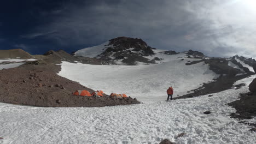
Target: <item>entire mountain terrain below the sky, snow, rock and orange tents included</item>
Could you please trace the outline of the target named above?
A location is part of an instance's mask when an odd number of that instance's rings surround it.
[[[0,143],[254,143],[255,71],[127,37],[72,55],[0,50]]]

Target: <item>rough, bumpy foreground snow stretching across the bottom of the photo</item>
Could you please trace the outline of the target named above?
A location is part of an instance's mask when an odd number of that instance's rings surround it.
[[[237,83],[249,83],[250,77]],[[52,108],[0,103],[0,143],[254,143],[252,127],[226,105],[248,85],[191,99],[112,107]],[[203,112],[211,111],[210,115]],[[256,118],[248,122],[256,122]],[[186,133],[175,139],[178,134]]]

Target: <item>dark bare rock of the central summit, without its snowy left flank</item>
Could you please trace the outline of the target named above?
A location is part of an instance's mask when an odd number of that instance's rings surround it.
[[[126,65],[136,65],[138,62],[154,64],[155,60],[150,60],[145,56],[154,55],[152,47],[145,41],[138,38],[118,37],[109,40],[109,44],[104,52],[97,56],[101,61],[115,64],[120,60]]]

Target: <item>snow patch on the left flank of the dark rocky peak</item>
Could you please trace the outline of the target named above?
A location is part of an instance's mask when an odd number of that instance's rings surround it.
[[[101,45],[87,47],[85,49],[78,50],[74,54],[75,54],[75,56],[84,56],[84,57],[94,58],[94,57],[97,57],[98,55],[100,55],[102,52],[104,52],[104,50],[106,50],[108,47],[110,47],[110,46],[105,46],[108,44],[109,44],[109,41],[107,41],[106,43],[103,43]]]

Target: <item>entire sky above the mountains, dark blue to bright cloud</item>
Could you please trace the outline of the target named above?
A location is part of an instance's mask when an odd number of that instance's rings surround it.
[[[0,49],[72,52],[125,36],[158,49],[256,58],[255,0],[9,0],[0,5]]]

